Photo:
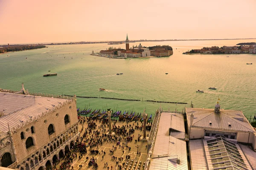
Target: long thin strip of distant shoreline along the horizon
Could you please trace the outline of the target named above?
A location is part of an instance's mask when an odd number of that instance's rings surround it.
[[[255,40],[256,38],[232,38],[232,39],[180,39],[180,40],[130,40],[129,42],[162,42],[162,41],[207,41],[207,40]],[[40,45],[74,45],[74,44],[102,44],[102,43],[109,43],[109,42],[125,42],[125,41],[80,41],[80,42],[55,42],[55,43],[23,43],[23,44],[11,44],[10,46],[15,45],[33,45],[33,44],[40,44]],[[7,44],[0,45],[0,47],[6,47]]]

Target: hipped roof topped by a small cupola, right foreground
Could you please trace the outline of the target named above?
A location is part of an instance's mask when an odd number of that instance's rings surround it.
[[[190,116],[194,114],[191,125]],[[225,129],[235,131],[255,132],[241,111],[221,110],[215,113],[213,109],[186,108],[187,120],[190,126]],[[209,122],[212,124],[210,125]],[[229,123],[231,126],[229,126]]]

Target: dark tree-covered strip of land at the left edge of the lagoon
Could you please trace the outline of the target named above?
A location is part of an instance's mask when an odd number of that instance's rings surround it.
[[[8,45],[7,47],[0,48],[0,53],[8,53],[14,51],[25,51],[38,48],[46,48],[45,45]]]

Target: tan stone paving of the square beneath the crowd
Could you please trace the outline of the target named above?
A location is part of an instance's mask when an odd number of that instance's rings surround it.
[[[80,121],[81,122],[81,121]],[[116,142],[111,142],[108,137],[106,137],[105,140],[102,140],[102,144],[99,144],[97,146],[91,147],[88,142],[86,142],[86,139],[93,139],[95,136],[102,136],[102,132],[105,133],[108,130],[107,124],[102,124],[99,120],[93,120],[90,122],[96,123],[96,128],[92,130],[90,134],[87,133],[87,137],[83,139],[83,143],[87,145],[87,153],[84,154],[80,159],[79,155],[80,153],[73,153],[76,156],[74,156],[73,163],[71,165],[70,169],[74,170],[94,170],[96,169],[93,167],[93,165],[89,166],[90,159],[96,159],[96,163],[98,165],[98,170],[119,170],[118,165],[122,166],[122,170],[124,167],[132,167],[131,170],[134,168],[135,170],[139,169],[143,170],[143,162],[146,161],[147,157],[147,142],[136,142],[135,140],[138,140],[139,136],[143,136],[143,128],[141,122],[115,122],[116,127],[122,127],[123,125],[126,127],[127,132],[129,130],[134,129],[134,133],[131,133],[131,136],[133,137],[132,141],[127,141],[125,138],[127,136],[124,135],[115,135],[115,137],[121,137],[124,139],[121,139],[119,145]],[[114,120],[112,120],[111,125],[113,127]],[[103,126],[103,128],[101,127]],[[106,125],[106,127],[104,127]],[[139,127],[139,129],[135,128],[135,126]],[[79,124],[79,131],[81,132],[80,137],[83,136],[85,129],[88,128],[88,123],[80,123]],[[88,130],[88,129],[87,129]],[[104,132],[105,131],[105,132]],[[96,135],[96,132],[100,132]],[[146,130],[146,135],[149,134],[149,130]],[[127,147],[126,147],[127,146]],[[116,149],[114,149],[116,147]],[[129,149],[130,147],[130,149]],[[138,148],[137,148],[138,147]],[[123,149],[122,149],[123,148]],[[98,154],[90,153],[90,150],[98,150]],[[102,152],[103,151],[103,152]],[[113,151],[113,153],[111,153]],[[138,151],[138,153],[137,153]],[[105,152],[105,155],[104,155]],[[103,157],[102,157],[103,156]],[[116,157],[116,159],[113,159],[113,156]],[[126,156],[130,156],[130,158],[126,159]],[[122,160],[119,161],[119,158],[122,158]],[[64,160],[61,160],[63,162]],[[116,164],[116,161],[118,164]],[[137,163],[136,163],[137,161]],[[56,165],[56,169],[60,169],[61,162]],[[140,164],[141,162],[141,164]],[[108,163],[108,166],[105,164]],[[140,165],[139,165],[140,164]],[[124,165],[124,166],[123,166]],[[131,166],[130,166],[131,165]],[[73,168],[72,168],[73,166]],[[134,167],[135,166],[135,167]]]

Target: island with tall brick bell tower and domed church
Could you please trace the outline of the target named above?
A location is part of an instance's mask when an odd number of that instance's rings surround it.
[[[99,56],[99,57],[108,57],[108,58],[116,58],[116,59],[126,59],[126,58],[149,58],[149,57],[168,57],[173,54],[172,47],[169,45],[163,46],[153,46],[153,47],[143,47],[140,45],[136,45],[136,47],[130,48],[128,35],[126,35],[125,40],[125,50],[121,48],[113,48],[110,47],[106,50],[101,50],[99,53],[92,52],[91,55]]]

